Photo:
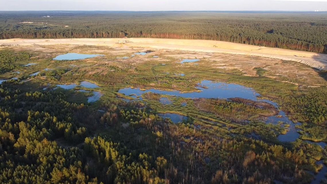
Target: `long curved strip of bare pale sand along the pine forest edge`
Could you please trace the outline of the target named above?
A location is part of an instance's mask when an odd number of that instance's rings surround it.
[[[168,49],[195,52],[227,53],[250,55],[295,61],[317,69],[327,69],[327,55],[263,46],[251,46],[230,42],[211,40],[178,40],[154,38],[81,38],[81,39],[7,39],[0,40],[0,46],[33,46],[33,45],[89,45],[144,47],[146,49]]]

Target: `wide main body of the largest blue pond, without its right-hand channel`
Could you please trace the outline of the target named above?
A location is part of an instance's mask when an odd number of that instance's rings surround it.
[[[258,93],[256,93],[252,88],[245,87],[238,84],[227,84],[227,83],[214,83],[212,81],[202,81],[198,85],[205,86],[196,88],[201,90],[201,92],[191,92],[191,93],[181,93],[180,91],[164,91],[158,89],[148,89],[145,91],[139,88],[123,88],[118,92],[126,96],[135,94],[136,96],[141,96],[144,93],[152,92],[161,95],[171,95],[183,98],[218,98],[218,99],[229,99],[229,98],[243,98],[256,101]]]

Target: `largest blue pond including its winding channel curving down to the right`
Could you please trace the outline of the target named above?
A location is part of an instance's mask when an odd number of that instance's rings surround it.
[[[177,96],[183,98],[218,98],[218,99],[229,99],[229,98],[243,98],[252,101],[264,101],[267,102],[276,108],[279,108],[278,104],[269,100],[257,99],[260,97],[260,94],[256,93],[252,88],[245,87],[238,84],[227,84],[227,83],[214,83],[212,81],[202,81],[196,87],[201,90],[200,92],[191,92],[191,93],[181,93],[180,91],[164,91],[158,89],[148,89],[145,91],[140,90],[139,88],[123,88],[118,92],[127,96],[136,98],[141,96],[144,93],[152,92],[162,95]],[[166,98],[160,99],[160,102],[165,104]],[[186,105],[186,104],[185,104]],[[288,131],[286,134],[281,134],[278,136],[278,139],[282,142],[293,142],[300,137],[296,125],[301,125],[301,123],[293,123],[283,111],[280,111],[277,116],[268,117],[266,123],[278,124],[279,121],[283,121],[285,124],[289,124]],[[324,142],[317,142],[318,145],[326,145]]]

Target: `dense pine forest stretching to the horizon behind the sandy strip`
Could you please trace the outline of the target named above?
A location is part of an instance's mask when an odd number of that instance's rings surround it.
[[[0,15],[0,39],[125,36],[203,39],[327,53],[325,12],[39,11],[0,12]]]

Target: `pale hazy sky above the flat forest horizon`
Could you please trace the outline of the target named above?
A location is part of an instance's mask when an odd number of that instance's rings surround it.
[[[0,0],[0,10],[327,11],[327,0]]]

